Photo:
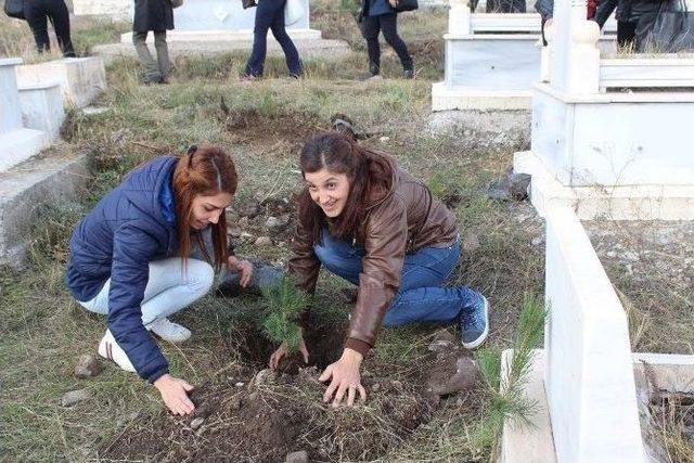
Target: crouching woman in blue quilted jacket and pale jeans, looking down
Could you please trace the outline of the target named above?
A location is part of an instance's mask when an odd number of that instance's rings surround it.
[[[193,411],[187,394],[193,386],[169,375],[151,333],[171,343],[191,336],[167,317],[209,291],[214,268],[240,272],[242,286],[249,281],[250,263],[227,245],[224,209],[236,183],[231,157],[216,146],[156,157],[107,193],[69,242],[70,294],[87,310],[107,316],[99,353],[154,384],[176,414]],[[202,237],[208,231],[211,248]],[[201,259],[192,258],[194,247]]]

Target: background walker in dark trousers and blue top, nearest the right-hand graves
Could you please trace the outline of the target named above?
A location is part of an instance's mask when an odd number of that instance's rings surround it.
[[[378,34],[383,31],[386,42],[398,54],[406,79],[414,77],[412,56],[404,41],[398,36],[397,0],[362,0],[363,36],[369,50],[369,72],[371,77],[381,76],[381,46]]]

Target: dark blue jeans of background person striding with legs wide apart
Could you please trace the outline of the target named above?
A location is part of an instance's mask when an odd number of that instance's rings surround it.
[[[256,8],[256,23],[253,29],[253,51],[246,64],[247,76],[260,77],[265,67],[265,55],[268,48],[268,29],[280,42],[290,74],[300,76],[301,61],[294,42],[284,28],[284,4],[286,0],[259,0]]]

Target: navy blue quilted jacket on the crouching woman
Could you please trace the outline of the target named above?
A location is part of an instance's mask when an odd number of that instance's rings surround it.
[[[155,382],[168,363],[142,325],[149,263],[176,255],[171,180],[177,158],[160,156],[130,172],[77,224],[69,241],[67,286],[79,301],[111,278],[108,329],[138,374]]]

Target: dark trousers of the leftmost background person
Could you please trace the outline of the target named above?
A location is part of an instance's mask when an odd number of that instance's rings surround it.
[[[48,18],[53,24],[63,56],[75,56],[73,41],[69,38],[69,13],[64,0],[25,0],[24,17],[34,33],[39,53],[51,49],[51,41],[48,37]]]

